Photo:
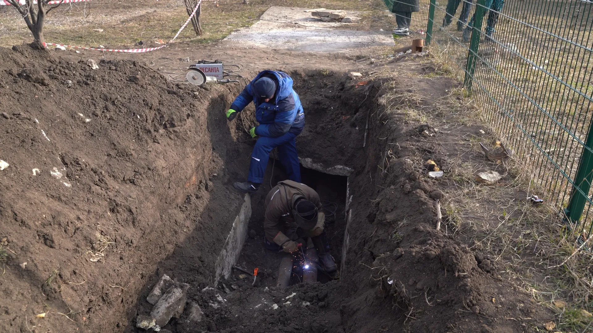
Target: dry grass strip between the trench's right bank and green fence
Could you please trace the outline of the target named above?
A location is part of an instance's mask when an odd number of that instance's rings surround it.
[[[457,89],[436,104],[436,113],[423,116],[441,129],[482,124],[480,111],[470,102],[466,92]],[[498,136],[482,128],[490,135],[447,135],[447,141],[463,143],[467,150],[444,162],[445,176],[439,180],[448,198],[444,204],[447,232],[466,238],[472,248],[495,258],[500,276],[518,281],[535,301],[557,313],[558,329],[585,332],[593,310],[591,252],[575,253],[579,235],[565,228],[553,202],[534,206],[525,200],[529,194],[545,193],[534,181],[532,169],[516,158],[501,164],[486,161],[479,143],[492,145]],[[486,169],[504,178],[496,185],[477,184],[474,175]],[[556,300],[565,301],[566,306],[554,306]]]

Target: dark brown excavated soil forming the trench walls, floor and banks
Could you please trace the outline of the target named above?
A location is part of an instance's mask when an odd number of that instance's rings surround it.
[[[377,103],[387,89],[415,87],[430,108],[450,79],[356,87],[342,73],[293,72],[307,113],[299,155],[355,170],[342,278],[275,289],[279,255],[263,248],[261,226],[270,162],[240,259],[262,283],[233,273],[225,293],[213,267],[243,200],[231,183],[246,177],[253,145],[243,123],[224,119],[239,88],[177,87],[131,60],[93,71],[26,46],[0,59],[0,159],[10,164],[0,171],[2,332],[136,332],[163,273],[189,283],[204,312],[198,323],[174,319],[173,332],[535,332],[551,317],[498,276],[493,258],[435,230],[439,184],[412,161],[439,155],[422,124]],[[317,185],[339,205],[328,231],[341,262],[346,197],[342,180],[327,180]]]

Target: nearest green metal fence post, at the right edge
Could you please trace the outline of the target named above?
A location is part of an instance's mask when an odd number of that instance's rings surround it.
[[[581,215],[583,214],[593,178],[593,153],[589,149],[586,149],[587,147],[593,150],[593,122],[589,123],[589,133],[583,147],[579,168],[576,171],[575,186],[572,188],[570,201],[565,209],[566,217],[569,222],[575,225],[575,228],[578,226],[579,219],[581,219]]]

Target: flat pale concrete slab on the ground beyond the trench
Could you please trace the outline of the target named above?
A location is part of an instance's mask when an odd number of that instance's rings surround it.
[[[307,8],[270,7],[256,24],[235,30],[223,43],[304,52],[343,52],[369,46],[393,46],[393,39],[348,27],[357,23],[321,22]],[[348,17],[361,12],[347,11]]]

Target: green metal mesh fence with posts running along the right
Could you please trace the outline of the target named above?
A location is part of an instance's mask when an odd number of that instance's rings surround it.
[[[375,31],[397,27],[391,9],[398,2],[410,1],[374,0]],[[583,240],[593,226],[592,7],[583,0],[421,0],[410,29],[426,30],[425,44]],[[396,43],[411,41],[397,36]]]

